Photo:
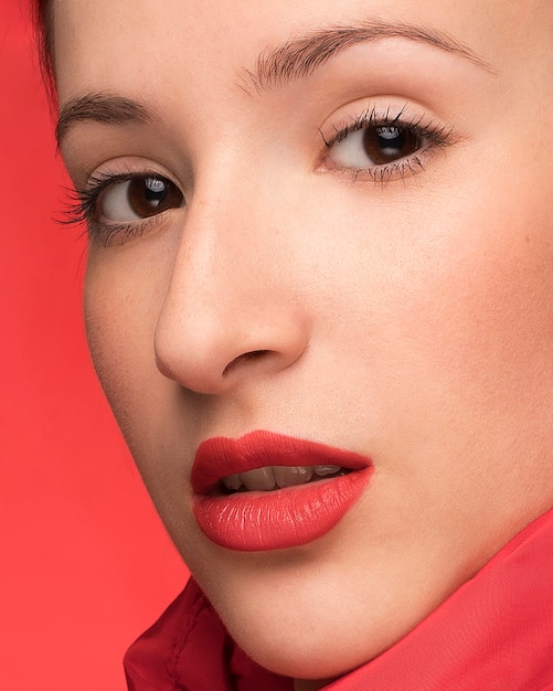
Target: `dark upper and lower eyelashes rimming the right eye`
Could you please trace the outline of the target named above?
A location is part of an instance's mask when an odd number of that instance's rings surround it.
[[[428,155],[436,148],[443,148],[454,143],[455,137],[451,128],[438,125],[433,120],[423,124],[426,118],[425,115],[407,118],[405,117],[406,110],[407,106],[405,105],[397,115],[391,115],[392,107],[389,107],[385,113],[382,113],[376,110],[376,107],[373,106],[359,115],[350,125],[334,127],[334,135],[330,139],[327,139],[322,131],[319,131],[327,151],[330,151],[332,147],[344,141],[350,135],[371,127],[397,127],[402,130],[408,130],[416,137],[428,140],[428,143],[424,148],[412,156],[407,156],[391,163],[375,164],[366,168],[334,167],[330,168],[330,170],[348,173],[353,181],[357,181],[359,178],[366,178],[371,182],[386,184],[394,178],[405,179],[406,176],[416,174],[416,169],[424,170]]]

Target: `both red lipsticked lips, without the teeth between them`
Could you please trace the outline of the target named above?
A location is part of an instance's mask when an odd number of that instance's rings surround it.
[[[349,470],[272,491],[225,493],[228,475],[266,466],[340,466]],[[193,511],[203,533],[230,550],[256,552],[308,544],[328,533],[362,495],[372,463],[352,451],[269,432],[214,437],[192,466]]]

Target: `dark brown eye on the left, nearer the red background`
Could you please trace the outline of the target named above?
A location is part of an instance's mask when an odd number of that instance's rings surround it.
[[[182,192],[170,180],[137,176],[106,187],[98,195],[97,214],[111,223],[129,223],[183,204]]]

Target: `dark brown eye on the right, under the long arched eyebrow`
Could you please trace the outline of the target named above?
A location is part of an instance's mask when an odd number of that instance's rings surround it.
[[[338,135],[328,160],[337,168],[369,169],[410,159],[427,143],[427,137],[407,126],[366,125]]]

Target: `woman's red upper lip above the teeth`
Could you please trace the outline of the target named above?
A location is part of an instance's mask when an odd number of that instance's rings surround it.
[[[196,495],[209,495],[224,477],[266,466],[318,465],[361,470],[372,464],[354,451],[256,430],[237,439],[212,437],[202,442],[192,465],[192,489]]]

